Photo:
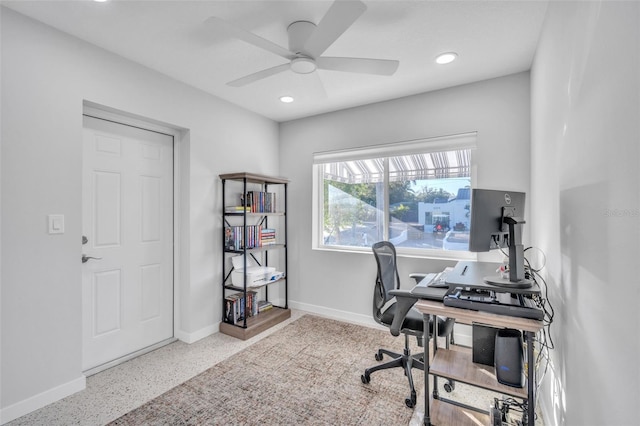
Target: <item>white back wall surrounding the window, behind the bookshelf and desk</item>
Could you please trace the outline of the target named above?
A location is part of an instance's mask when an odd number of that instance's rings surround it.
[[[476,186],[528,192],[529,121],[529,74],[519,73],[282,123],[280,171],[291,179],[292,306],[373,322],[373,256],[311,249],[314,152],[477,131]],[[398,264],[403,287],[410,288],[410,272],[438,271],[453,262],[407,257]]]

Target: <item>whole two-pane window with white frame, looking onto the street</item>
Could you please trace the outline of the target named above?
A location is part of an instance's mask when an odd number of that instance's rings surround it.
[[[475,140],[467,133],[314,154],[314,248],[362,250],[389,240],[399,252],[461,257]]]

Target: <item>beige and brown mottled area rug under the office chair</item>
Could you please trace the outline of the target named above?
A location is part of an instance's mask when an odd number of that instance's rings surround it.
[[[388,331],[305,315],[111,425],[407,425],[407,379],[383,370],[365,385]],[[421,389],[420,371],[414,374]]]

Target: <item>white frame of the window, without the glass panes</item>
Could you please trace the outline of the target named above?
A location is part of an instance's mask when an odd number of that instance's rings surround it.
[[[347,253],[369,253],[369,247],[356,246],[336,246],[325,245],[323,242],[324,233],[324,175],[323,164],[364,160],[372,158],[382,158],[384,160],[384,206],[382,208],[385,227],[383,230],[384,239],[389,238],[389,158],[394,156],[431,153],[441,151],[453,151],[458,149],[470,150],[470,179],[471,187],[476,185],[477,165],[474,151],[476,149],[477,132],[462,133],[456,135],[417,139],[405,142],[396,142],[382,145],[364,146],[335,151],[324,151],[313,154],[312,172],[312,236],[311,245],[313,250],[347,252]],[[444,249],[424,249],[411,247],[396,247],[396,252],[403,257],[418,257],[428,259],[445,260],[476,260],[477,254],[469,251],[444,250]]]

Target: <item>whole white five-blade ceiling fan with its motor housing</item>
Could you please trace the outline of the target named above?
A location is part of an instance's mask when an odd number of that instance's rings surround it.
[[[287,28],[288,49],[217,17],[208,18],[205,24],[289,60],[288,63],[230,81],[227,83],[229,86],[241,87],[288,70],[298,74],[324,69],[392,75],[399,65],[395,60],[321,56],[366,9],[367,6],[359,0],[336,0],[318,25],[308,21],[293,22]]]

